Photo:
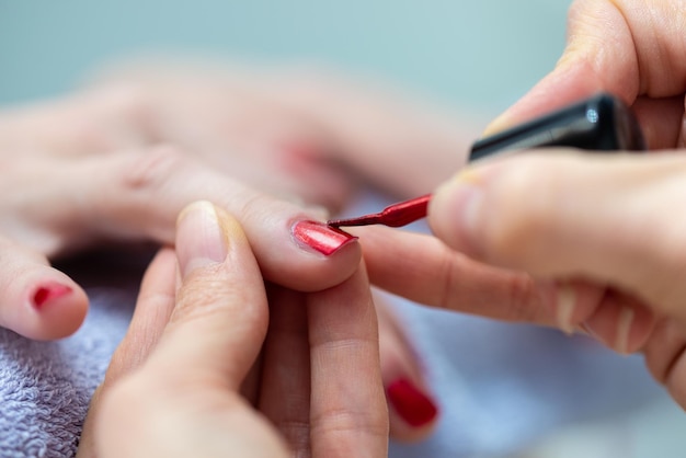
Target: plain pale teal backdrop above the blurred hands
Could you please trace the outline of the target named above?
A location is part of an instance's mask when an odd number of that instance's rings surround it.
[[[554,64],[567,1],[0,0],[0,103],[102,61],[184,51],[320,61],[495,113]]]

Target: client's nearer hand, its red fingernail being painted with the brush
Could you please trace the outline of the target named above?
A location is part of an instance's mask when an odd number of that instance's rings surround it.
[[[87,309],[79,285],[48,257],[113,240],[171,244],[175,215],[197,199],[239,217],[264,276],[276,284],[320,290],[359,263],[358,243],[321,222],[321,211],[270,197],[173,147],[1,160],[0,325],[28,337],[68,335]]]

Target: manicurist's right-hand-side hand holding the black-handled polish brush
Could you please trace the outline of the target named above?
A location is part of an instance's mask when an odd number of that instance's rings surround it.
[[[489,129],[608,91],[637,113],[654,153],[551,150],[469,167],[430,206],[432,229],[449,249],[430,242],[420,254],[419,245],[408,248],[410,239],[393,240],[405,247],[405,259],[422,256],[413,259],[414,271],[425,274],[412,283],[402,274],[410,266],[396,264],[393,279],[365,247],[373,280],[416,300],[481,312],[458,300],[461,275],[470,266],[498,268],[493,275],[510,277],[513,289],[489,297],[510,310],[491,306],[484,314],[582,330],[619,352],[641,351],[686,407],[683,11],[682,1],[574,2],[554,70]],[[420,287],[428,277],[436,287]]]

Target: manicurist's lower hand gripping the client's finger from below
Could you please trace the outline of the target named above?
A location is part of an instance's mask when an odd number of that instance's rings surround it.
[[[146,274],[79,457],[386,456],[364,267],[321,293],[272,288],[267,310],[244,233],[209,203],[183,211],[176,253]]]

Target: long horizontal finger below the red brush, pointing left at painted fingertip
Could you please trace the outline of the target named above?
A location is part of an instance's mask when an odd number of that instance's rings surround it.
[[[356,233],[371,282],[390,293],[432,307],[556,327],[567,334],[581,323],[597,323],[598,340],[609,346],[618,341],[615,329],[607,327],[607,318],[618,317],[621,310],[595,317],[605,304],[603,285],[583,279],[535,279],[521,271],[473,261],[430,236],[371,227],[359,228]],[[651,322],[634,328],[621,351],[638,350]]]

